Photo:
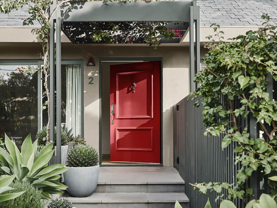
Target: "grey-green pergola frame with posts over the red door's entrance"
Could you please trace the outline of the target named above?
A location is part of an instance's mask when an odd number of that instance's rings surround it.
[[[57,8],[59,1],[53,0],[51,13]],[[182,33],[189,29],[189,65],[190,65],[190,92],[196,88],[193,79],[194,74],[200,70],[200,41],[199,41],[199,6],[196,0],[192,1],[136,1],[136,2],[72,2],[72,8],[62,5],[56,11],[51,20],[50,28],[50,86],[56,81],[56,122],[57,122],[57,156],[51,163],[61,163],[61,31],[66,34],[72,43],[92,43],[87,37],[91,31],[89,23],[105,22],[182,22]],[[194,23],[195,23],[195,46],[194,46]],[[102,26],[104,26],[103,24]],[[56,26],[56,27],[55,27]],[[170,25],[169,25],[170,26]],[[76,29],[77,28],[77,29]],[[192,28],[192,29],[191,29]],[[55,60],[55,31],[56,31],[56,60]],[[80,32],[81,31],[81,32]],[[80,36],[81,34],[85,36]],[[179,43],[179,39],[162,43]],[[120,43],[120,41],[118,42]],[[195,47],[195,49],[194,49]],[[194,60],[195,58],[195,60]],[[55,139],[55,101],[54,88],[50,88],[50,140]]]

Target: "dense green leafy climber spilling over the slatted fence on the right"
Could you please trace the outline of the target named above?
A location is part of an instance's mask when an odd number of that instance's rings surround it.
[[[222,149],[233,144],[238,155],[235,164],[241,164],[235,184],[193,184],[200,193],[216,191],[219,194],[216,200],[249,199],[253,189],[248,179],[258,168],[261,178],[267,175],[276,179],[277,100],[270,98],[266,89],[269,77],[277,80],[277,35],[276,26],[269,24],[270,18],[266,14],[262,18],[266,20],[264,27],[248,31],[231,42],[223,41],[220,26],[212,24],[216,35],[208,37],[211,42],[205,46],[209,49],[204,59],[207,67],[195,75],[194,81],[200,87],[191,96],[199,96],[195,106],[204,107],[204,134],[224,135]],[[235,100],[240,104],[234,105]],[[259,123],[263,136],[251,138],[248,127],[242,129],[239,119],[246,119],[248,115]],[[277,187],[274,180],[268,180],[272,194]]]

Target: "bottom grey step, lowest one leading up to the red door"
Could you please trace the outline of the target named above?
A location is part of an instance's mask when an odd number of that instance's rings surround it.
[[[183,208],[189,208],[184,193],[93,193],[88,197],[68,198],[76,208],[174,208],[178,200]]]

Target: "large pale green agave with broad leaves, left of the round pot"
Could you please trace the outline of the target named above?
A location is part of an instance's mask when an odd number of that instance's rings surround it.
[[[53,156],[53,142],[47,144],[35,157],[36,140],[32,144],[30,134],[22,144],[21,153],[13,141],[5,134],[5,144],[8,152],[0,148],[0,172],[15,174],[19,181],[29,182],[34,187],[42,189],[42,198],[51,200],[49,194],[61,194],[67,186],[56,182],[68,168],[63,164],[48,165]]]

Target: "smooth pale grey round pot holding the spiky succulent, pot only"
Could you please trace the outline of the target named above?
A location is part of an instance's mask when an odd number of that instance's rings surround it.
[[[68,193],[74,197],[86,197],[95,191],[99,176],[99,165],[93,167],[70,167],[63,173]]]

